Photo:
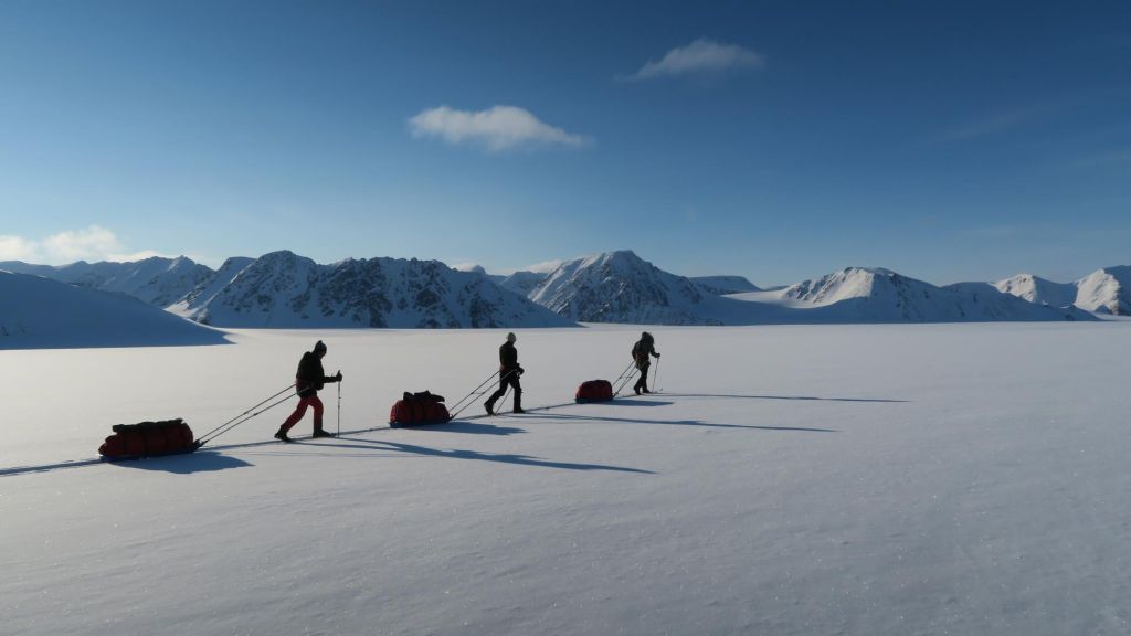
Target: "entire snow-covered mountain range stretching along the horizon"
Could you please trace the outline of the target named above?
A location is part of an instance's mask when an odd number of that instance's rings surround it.
[[[849,267],[775,290],[759,290],[741,276],[679,276],[631,250],[509,276],[416,259],[319,265],[290,251],[230,258],[215,272],[184,257],[61,267],[3,263],[0,269],[128,293],[216,327],[1028,321],[1131,313],[1131,267],[1099,269],[1074,283],[1022,274],[947,286]]]

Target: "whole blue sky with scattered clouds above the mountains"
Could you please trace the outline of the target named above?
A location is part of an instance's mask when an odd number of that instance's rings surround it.
[[[0,3],[0,260],[1131,263],[1126,2]]]

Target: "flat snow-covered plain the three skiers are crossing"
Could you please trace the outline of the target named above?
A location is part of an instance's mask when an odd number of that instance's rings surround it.
[[[503,332],[0,353],[0,631],[1131,631],[1131,321],[649,330],[664,394],[572,404],[639,328],[525,329],[553,409],[366,431]],[[280,407],[89,461],[116,422],[236,415],[319,337],[342,438],[270,441]]]

